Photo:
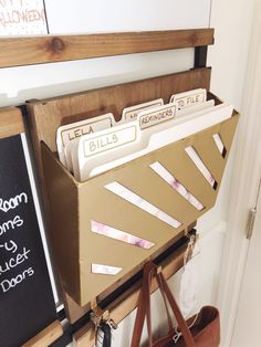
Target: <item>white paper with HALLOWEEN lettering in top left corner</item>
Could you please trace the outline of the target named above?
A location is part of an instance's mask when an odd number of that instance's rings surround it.
[[[46,33],[43,0],[0,0],[0,35]]]

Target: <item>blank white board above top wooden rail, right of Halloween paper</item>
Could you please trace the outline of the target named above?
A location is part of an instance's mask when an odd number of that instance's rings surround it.
[[[205,28],[210,0],[45,0],[50,33]]]

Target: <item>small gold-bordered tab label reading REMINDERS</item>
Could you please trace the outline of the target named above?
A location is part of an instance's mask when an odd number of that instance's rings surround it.
[[[173,119],[175,117],[176,106],[169,104],[169,106],[157,107],[154,112],[144,112],[139,115],[139,127],[140,129],[149,128],[159,123]]]

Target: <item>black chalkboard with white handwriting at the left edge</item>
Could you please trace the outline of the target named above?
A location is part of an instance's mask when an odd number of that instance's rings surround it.
[[[25,137],[1,137],[0,130],[0,346],[14,347],[55,320],[56,311],[28,174]]]

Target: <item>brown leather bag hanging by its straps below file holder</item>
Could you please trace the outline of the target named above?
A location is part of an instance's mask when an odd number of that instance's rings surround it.
[[[164,298],[168,317],[168,334],[153,343],[152,315],[150,315],[150,284],[153,275],[156,276],[160,293]],[[177,319],[178,328],[173,325],[168,304]],[[220,343],[219,312],[216,307],[205,306],[198,315],[184,319],[181,312],[169,290],[167,281],[157,266],[148,262],[144,266],[143,286],[140,290],[138,309],[134,325],[130,347],[139,347],[145,318],[147,320],[149,347],[218,347]]]

